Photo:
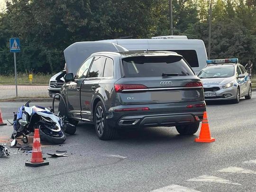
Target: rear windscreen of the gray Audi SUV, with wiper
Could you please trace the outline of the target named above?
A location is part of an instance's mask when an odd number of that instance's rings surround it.
[[[123,58],[125,77],[158,77],[163,73],[194,75],[181,57],[129,57]]]

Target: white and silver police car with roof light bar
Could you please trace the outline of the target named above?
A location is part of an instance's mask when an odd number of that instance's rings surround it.
[[[241,97],[251,99],[251,80],[238,58],[207,60],[207,66],[201,69],[198,77],[203,83],[205,100],[238,103]]]

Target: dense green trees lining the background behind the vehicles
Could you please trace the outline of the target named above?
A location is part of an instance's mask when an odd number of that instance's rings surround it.
[[[209,0],[172,0],[175,35],[208,47]],[[211,58],[256,63],[256,0],[212,0]],[[19,72],[55,73],[73,42],[169,35],[169,0],[12,0],[0,13],[0,74],[13,73],[9,38],[19,37]]]

